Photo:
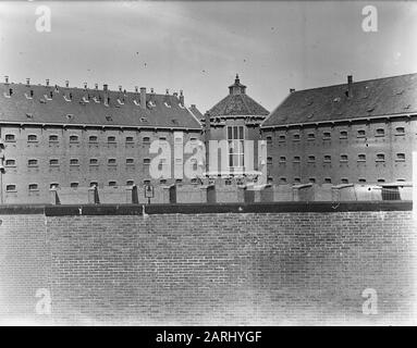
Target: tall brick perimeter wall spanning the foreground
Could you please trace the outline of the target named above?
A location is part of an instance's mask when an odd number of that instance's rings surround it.
[[[416,324],[408,208],[306,206],[2,214],[0,321]],[[51,314],[35,311],[39,288]],[[366,288],[377,291],[376,314],[363,313]]]

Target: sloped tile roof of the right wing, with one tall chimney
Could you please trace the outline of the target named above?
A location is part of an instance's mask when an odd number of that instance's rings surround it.
[[[305,89],[290,94],[262,127],[417,112],[417,74]]]

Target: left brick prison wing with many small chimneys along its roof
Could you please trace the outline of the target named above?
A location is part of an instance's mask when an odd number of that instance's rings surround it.
[[[182,91],[14,84],[5,77],[0,84],[1,203],[48,202],[53,186],[189,182],[181,170],[174,176],[186,156],[173,152],[160,161],[161,166],[171,162],[172,175],[151,177],[156,154],[149,149],[158,139],[172,149],[199,139],[201,124],[193,110]]]

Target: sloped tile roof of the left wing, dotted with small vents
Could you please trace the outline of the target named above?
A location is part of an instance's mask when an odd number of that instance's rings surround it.
[[[12,96],[7,98],[10,89]],[[33,99],[26,97],[30,90]],[[50,94],[52,99],[48,100]],[[70,94],[72,101],[65,100]],[[181,107],[176,96],[148,92],[146,110],[135,104],[140,102],[139,92],[108,90],[108,97],[110,102],[106,107],[103,90],[0,84],[0,122],[201,128],[196,117]]]

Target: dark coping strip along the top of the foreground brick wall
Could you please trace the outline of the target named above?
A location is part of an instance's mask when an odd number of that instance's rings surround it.
[[[175,203],[175,204],[10,204],[0,206],[0,215],[143,215],[209,213],[287,213],[287,212],[357,212],[410,211],[412,201],[352,202],[261,202],[261,203]]]

